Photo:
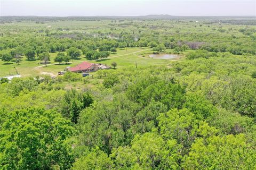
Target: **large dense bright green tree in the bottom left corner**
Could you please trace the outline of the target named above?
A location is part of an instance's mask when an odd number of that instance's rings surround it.
[[[69,169],[74,157],[66,139],[72,133],[70,121],[55,111],[27,108],[5,112],[0,131],[0,167]]]

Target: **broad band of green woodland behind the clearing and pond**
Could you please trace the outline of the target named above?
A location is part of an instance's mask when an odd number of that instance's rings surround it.
[[[3,24],[0,59],[6,63],[20,63],[22,56],[26,56],[28,61],[34,61],[39,60],[42,53],[67,51],[71,59],[77,59],[82,55],[88,60],[101,60],[107,58],[110,52],[115,53],[116,48],[148,46],[156,53],[170,48],[177,53],[188,49],[201,49],[214,53],[229,52],[234,55],[256,54],[254,25],[217,24],[204,20],[198,23],[186,20],[106,20],[104,24],[100,21],[95,22],[93,27],[90,21],[80,21],[85,25],[82,30],[77,30],[76,26],[70,25],[76,23],[75,20],[67,22],[66,27],[57,24],[54,28],[48,25],[54,23],[50,21],[49,19],[47,23],[30,22],[30,26],[22,22],[14,22],[14,25]],[[55,61],[70,60],[60,58]]]

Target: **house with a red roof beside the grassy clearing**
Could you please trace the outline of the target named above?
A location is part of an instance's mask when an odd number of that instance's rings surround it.
[[[75,67],[69,67],[67,68],[68,71],[71,72],[91,72],[91,71],[96,71],[99,69],[98,64],[94,63],[88,63],[88,62],[83,62],[81,64],[76,65]]]

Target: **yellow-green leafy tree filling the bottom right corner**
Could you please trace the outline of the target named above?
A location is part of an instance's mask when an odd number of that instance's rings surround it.
[[[185,169],[255,169],[256,151],[244,134],[199,138],[185,157]]]

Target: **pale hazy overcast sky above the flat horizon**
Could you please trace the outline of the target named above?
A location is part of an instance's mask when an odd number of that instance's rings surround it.
[[[162,1],[162,0],[0,0],[0,15],[37,16],[256,16],[254,1]]]

